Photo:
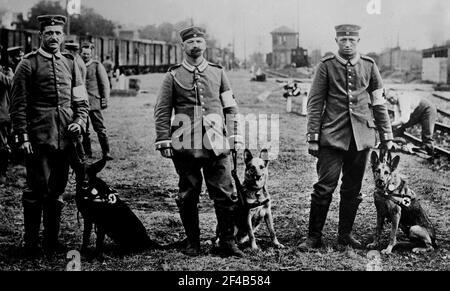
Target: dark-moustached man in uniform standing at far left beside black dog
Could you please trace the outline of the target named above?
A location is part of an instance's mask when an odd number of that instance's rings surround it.
[[[47,255],[65,251],[58,241],[61,210],[72,151],[71,138],[86,126],[89,104],[78,66],[60,52],[65,16],[41,15],[40,48],[19,63],[11,93],[15,139],[26,154],[27,189],[23,192],[24,247],[39,254],[41,215]]]

